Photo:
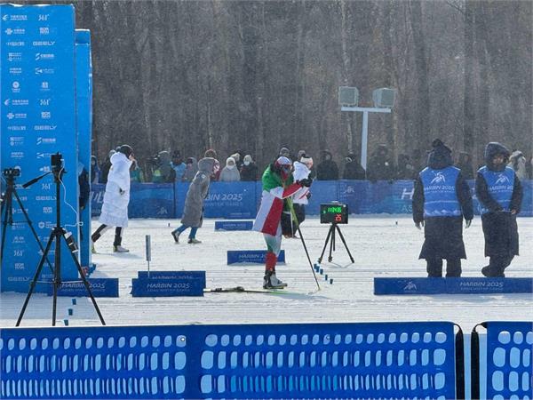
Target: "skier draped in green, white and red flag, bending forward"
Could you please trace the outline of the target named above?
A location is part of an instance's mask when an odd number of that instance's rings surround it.
[[[292,162],[286,156],[279,156],[263,173],[263,195],[253,230],[261,232],[267,243],[265,262],[265,289],[282,289],[287,286],[275,276],[275,264],[282,248],[282,211],[286,199],[300,188],[311,186],[311,180],[294,182]]]

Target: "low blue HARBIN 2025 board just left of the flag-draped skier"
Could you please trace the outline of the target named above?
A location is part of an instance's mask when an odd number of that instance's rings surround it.
[[[205,279],[133,278],[133,297],[203,296]]]

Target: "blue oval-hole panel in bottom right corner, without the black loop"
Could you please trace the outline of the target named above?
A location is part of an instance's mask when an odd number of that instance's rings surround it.
[[[533,398],[533,322],[489,322],[487,398]]]

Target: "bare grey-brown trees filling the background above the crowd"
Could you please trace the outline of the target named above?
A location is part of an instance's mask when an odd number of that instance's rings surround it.
[[[338,86],[397,91],[371,115],[369,149],[394,156],[434,138],[480,163],[489,140],[532,139],[529,1],[78,0],[91,29],[93,150],[140,157],[242,149],[269,162],[282,146],[360,153],[362,116]]]

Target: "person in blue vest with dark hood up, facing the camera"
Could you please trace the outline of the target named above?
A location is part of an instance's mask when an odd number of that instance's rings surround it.
[[[518,255],[516,215],[521,209],[521,182],[506,166],[511,153],[505,146],[490,142],[485,148],[485,165],[475,180],[475,194],[481,206],[481,224],[485,236],[485,257],[489,265],[481,273],[505,277],[505,268]]]

